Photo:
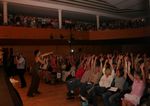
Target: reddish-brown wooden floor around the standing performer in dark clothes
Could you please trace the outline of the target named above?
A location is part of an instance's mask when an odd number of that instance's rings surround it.
[[[25,78],[27,81],[26,88],[20,88],[19,83],[14,85],[23,100],[24,106],[80,106],[78,97],[74,100],[66,100],[65,84],[48,85],[41,81],[39,89],[41,94],[35,97],[27,97],[31,77],[26,75]],[[16,77],[16,79],[18,78]]]

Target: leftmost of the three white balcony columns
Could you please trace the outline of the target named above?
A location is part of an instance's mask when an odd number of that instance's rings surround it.
[[[8,23],[7,1],[3,1],[3,23]]]

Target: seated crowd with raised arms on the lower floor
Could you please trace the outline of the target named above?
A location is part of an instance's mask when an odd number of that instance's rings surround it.
[[[40,74],[46,82],[57,78],[66,82],[67,99],[79,94],[81,103],[91,106],[98,106],[99,97],[104,106],[149,106],[150,58],[146,54],[58,56],[49,53],[41,61],[38,70],[43,71]]]

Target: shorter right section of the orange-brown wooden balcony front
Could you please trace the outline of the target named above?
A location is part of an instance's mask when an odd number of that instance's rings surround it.
[[[133,29],[114,29],[89,32],[90,40],[124,39],[150,36],[150,27]]]

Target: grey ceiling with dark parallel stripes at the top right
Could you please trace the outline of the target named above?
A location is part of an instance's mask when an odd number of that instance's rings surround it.
[[[133,17],[145,15],[149,0],[35,0]],[[132,13],[132,14],[131,14]]]

